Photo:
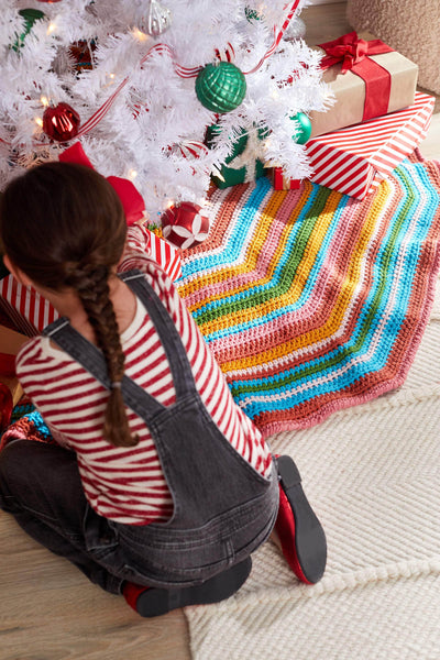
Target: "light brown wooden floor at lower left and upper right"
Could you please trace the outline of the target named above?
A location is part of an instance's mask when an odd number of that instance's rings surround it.
[[[310,43],[350,31],[344,2],[302,12]],[[421,151],[440,158],[440,108]],[[142,619],[38,547],[0,512],[0,660],[186,660],[180,610]],[[226,658],[226,660],[228,660]],[[243,660],[248,660],[243,658]]]

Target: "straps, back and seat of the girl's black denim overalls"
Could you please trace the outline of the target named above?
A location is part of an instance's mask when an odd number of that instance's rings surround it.
[[[164,524],[146,526],[108,521],[114,535],[109,570],[141,584],[189,586],[242,561],[270,536],[278,508],[276,469],[266,480],[231,447],[200,399],[168,311],[142,273],[120,277],[145,306],[174,380],[176,402],[169,407],[129,377],[122,381],[125,404],[153,437],[174,514]],[[101,352],[66,319],[48,326],[44,334],[109,388]]]

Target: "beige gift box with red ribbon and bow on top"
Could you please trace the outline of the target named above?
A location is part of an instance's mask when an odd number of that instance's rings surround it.
[[[395,112],[414,103],[418,67],[407,57],[400,55],[396,51],[391,51],[389,46],[383,44],[384,52],[377,55],[370,55],[365,50],[369,44],[373,44],[372,50],[381,50],[378,40],[372,40],[371,35],[362,34],[364,38],[359,42],[355,32],[341,37],[345,44],[329,47],[328,51],[339,53],[340,57],[344,56],[344,62],[338,62],[326,68],[322,79],[330,86],[331,92],[334,96],[336,102],[328,108],[326,112],[310,112],[311,121],[311,138],[337,131],[338,129],[356,124],[361,121],[373,119],[389,112]],[[340,40],[337,40],[340,41]],[[334,42],[328,42],[333,44]],[[367,44],[365,46],[365,44]],[[322,44],[327,46],[327,44]],[[322,54],[326,52],[320,48]],[[322,63],[331,64],[338,57],[331,58],[330,55],[323,57]],[[342,73],[346,67],[345,73]],[[385,73],[383,72],[385,69]],[[358,72],[358,73],[356,73]],[[384,89],[383,76],[388,77],[388,86]],[[367,79],[367,85],[361,77]],[[371,102],[365,105],[366,89],[369,89],[369,99]]]

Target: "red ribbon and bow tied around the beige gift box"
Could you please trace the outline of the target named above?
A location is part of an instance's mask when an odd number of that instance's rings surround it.
[[[389,72],[371,59],[370,55],[392,53],[393,48],[378,38],[365,41],[359,38],[356,32],[324,44],[318,44],[326,52],[321,68],[328,69],[334,64],[342,63],[342,74],[352,72],[365,82],[365,102],[362,121],[381,117],[388,112],[392,76]]]

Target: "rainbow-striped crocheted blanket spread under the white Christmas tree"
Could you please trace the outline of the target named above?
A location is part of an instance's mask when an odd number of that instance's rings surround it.
[[[359,201],[263,177],[215,190],[179,293],[235,402],[265,435],[404,382],[439,271],[440,175],[416,152]]]

